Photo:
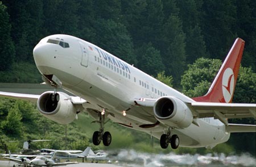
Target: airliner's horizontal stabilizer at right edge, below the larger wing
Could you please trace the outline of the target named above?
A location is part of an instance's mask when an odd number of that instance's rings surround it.
[[[226,131],[230,133],[235,132],[256,132],[256,125],[253,124],[228,124]]]

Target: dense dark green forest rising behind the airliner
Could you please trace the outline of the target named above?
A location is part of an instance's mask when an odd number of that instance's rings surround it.
[[[255,23],[253,0],[0,1],[0,82],[42,82],[32,49],[45,36],[68,34],[195,97],[206,93],[234,40],[241,37],[245,50],[234,102],[255,103]],[[5,101],[0,103],[2,132],[8,119]],[[18,112],[12,103],[12,113]],[[237,121],[255,123],[232,120]],[[255,133],[234,134],[228,144],[255,155],[254,141]]]

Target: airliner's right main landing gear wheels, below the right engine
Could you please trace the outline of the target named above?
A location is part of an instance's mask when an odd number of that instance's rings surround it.
[[[171,144],[172,149],[177,149],[180,144],[180,139],[177,135],[171,135],[170,128],[167,131],[167,134],[163,134],[160,138],[160,145],[162,148],[166,149],[168,144]]]

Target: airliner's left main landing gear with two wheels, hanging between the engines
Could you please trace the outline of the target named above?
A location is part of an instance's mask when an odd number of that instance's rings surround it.
[[[93,133],[93,144],[99,145],[101,143],[101,140],[103,141],[103,144],[105,146],[109,146],[112,140],[110,132],[104,132],[104,124],[105,124],[105,113],[101,114],[99,112],[100,120],[98,123],[100,123],[100,131],[95,131]]]

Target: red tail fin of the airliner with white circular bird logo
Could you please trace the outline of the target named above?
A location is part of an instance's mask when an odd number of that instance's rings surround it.
[[[232,102],[244,46],[245,41],[237,38],[230,49],[228,56],[226,56],[217,76],[214,78],[208,93],[202,97],[193,98],[195,101],[219,103]]]

